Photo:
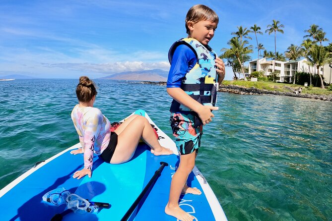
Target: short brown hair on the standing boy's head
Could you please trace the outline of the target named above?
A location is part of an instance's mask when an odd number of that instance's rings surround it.
[[[187,34],[190,34],[188,21],[196,24],[199,21],[212,21],[218,24],[219,17],[218,15],[209,7],[203,4],[196,4],[191,7],[186,16],[186,30]]]

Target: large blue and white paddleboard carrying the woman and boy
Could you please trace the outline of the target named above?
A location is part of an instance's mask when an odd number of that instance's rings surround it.
[[[135,114],[145,116],[155,125],[144,110]],[[72,155],[70,151],[80,147],[76,144],[56,156],[31,168],[0,190],[1,221],[49,221],[55,214],[66,210],[66,205],[53,206],[45,203],[45,193],[62,188],[84,199],[109,203],[109,209],[99,213],[69,213],[64,221],[120,221],[133,202],[150,181],[160,162],[166,162],[161,175],[149,194],[146,194],[133,211],[130,221],[177,221],[164,213],[168,202],[170,184],[179,165],[179,155],[175,143],[156,125],[159,142],[170,148],[174,154],[154,156],[145,143],[139,143],[133,159],[112,165],[94,156],[92,177],[72,178],[75,171],[83,167],[83,156]],[[180,207],[194,216],[196,221],[227,221],[226,216],[210,186],[195,166],[188,177],[188,185],[201,190],[201,195],[182,194]]]

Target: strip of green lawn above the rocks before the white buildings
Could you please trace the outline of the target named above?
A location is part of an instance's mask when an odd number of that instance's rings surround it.
[[[332,95],[332,91],[321,89],[318,87],[304,87],[303,85],[275,83],[271,81],[228,81],[224,80],[223,85],[237,85],[245,88],[255,87],[261,90],[279,91],[279,92],[293,92],[293,90],[302,87],[301,94],[311,95]],[[290,88],[290,89],[289,89]]]

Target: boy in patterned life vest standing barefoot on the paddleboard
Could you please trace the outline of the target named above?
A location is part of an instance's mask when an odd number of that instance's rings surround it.
[[[175,42],[169,50],[171,68],[167,93],[173,98],[170,124],[180,154],[180,165],[172,178],[165,213],[181,221],[194,217],[179,206],[181,193],[201,194],[186,184],[195,166],[203,125],[212,121],[219,83],[225,77],[224,62],[208,46],[219,22],[209,7],[198,4],[186,16],[188,37]]]

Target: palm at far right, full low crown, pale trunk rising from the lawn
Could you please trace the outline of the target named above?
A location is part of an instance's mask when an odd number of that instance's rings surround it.
[[[322,75],[320,74],[320,67],[331,62],[331,53],[327,52],[321,45],[313,45],[310,49],[310,55],[312,57],[310,62],[316,64],[318,76],[321,79],[321,88],[324,89],[325,87]]]

